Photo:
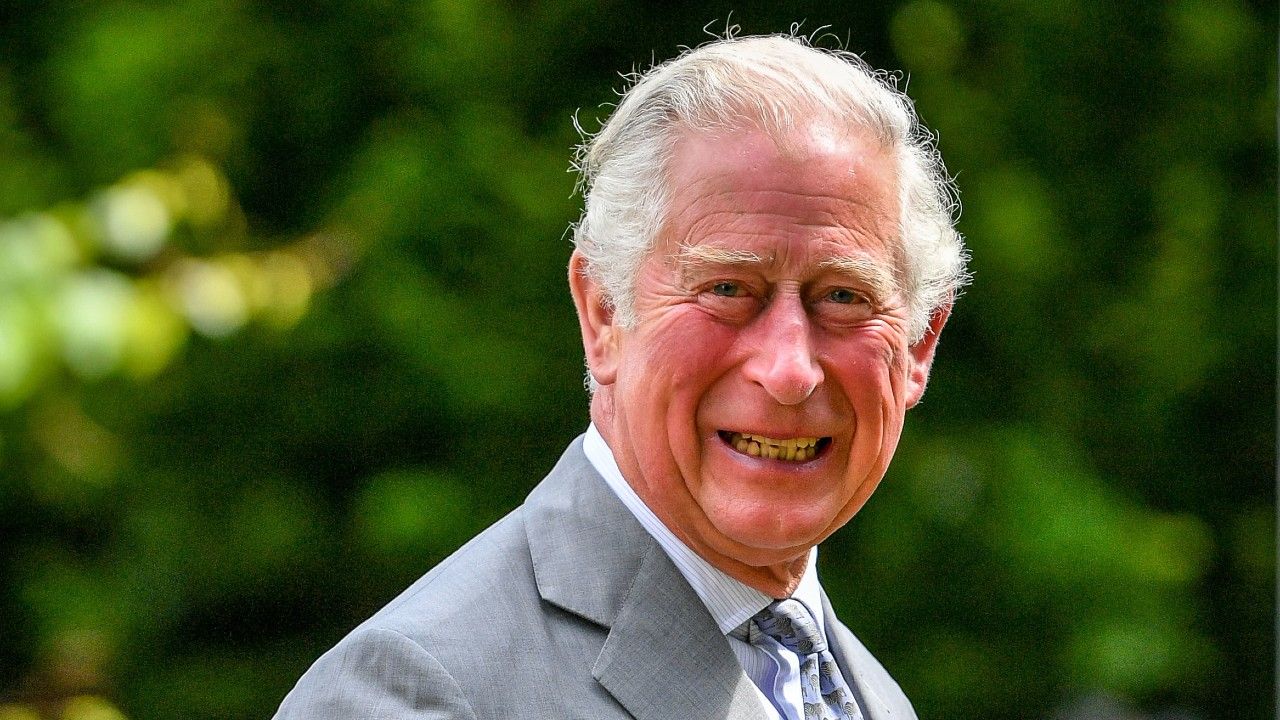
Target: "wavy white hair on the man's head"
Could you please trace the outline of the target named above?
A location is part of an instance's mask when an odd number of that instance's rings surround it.
[[[842,50],[790,35],[727,37],[636,73],[599,132],[581,128],[575,155],[585,199],[573,245],[623,325],[635,323],[635,282],[669,196],[667,165],[686,132],[759,128],[783,140],[809,122],[870,133],[899,160],[899,268],[909,336],[968,282],[955,231],[955,186],[911,100],[890,73]]]

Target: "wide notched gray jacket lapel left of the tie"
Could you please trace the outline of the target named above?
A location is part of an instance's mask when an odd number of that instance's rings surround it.
[[[639,720],[767,717],[710,612],[573,441],[525,503],[543,598],[609,628],[593,675]]]

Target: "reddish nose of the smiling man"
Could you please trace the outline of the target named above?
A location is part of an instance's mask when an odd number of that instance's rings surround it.
[[[744,365],[746,378],[780,405],[804,402],[823,380],[804,302],[794,296],[776,296],[756,325],[758,332],[750,338],[754,350]]]

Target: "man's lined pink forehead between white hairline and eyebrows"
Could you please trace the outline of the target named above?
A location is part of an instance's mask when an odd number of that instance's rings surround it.
[[[762,256],[896,258],[897,173],[860,132],[810,126],[686,133],[667,169],[666,254],[712,245]]]

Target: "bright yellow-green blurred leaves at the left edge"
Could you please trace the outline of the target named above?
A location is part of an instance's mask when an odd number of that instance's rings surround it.
[[[296,323],[314,290],[333,279],[315,240],[197,258],[175,237],[234,237],[237,213],[220,173],[183,158],[88,202],[0,223],[0,314],[9,320],[0,401],[15,406],[58,365],[82,379],[141,379],[160,372],[191,331],[219,338],[251,318]]]

